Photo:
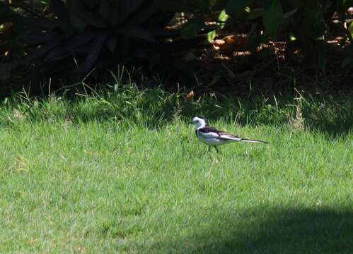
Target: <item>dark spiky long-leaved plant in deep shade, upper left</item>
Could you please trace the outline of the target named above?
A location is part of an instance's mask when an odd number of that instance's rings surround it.
[[[173,16],[158,11],[154,0],[52,0],[50,7],[52,16],[45,18],[8,15],[23,43],[35,48],[16,66],[32,64],[41,79],[82,76],[136,59],[153,65]]]

